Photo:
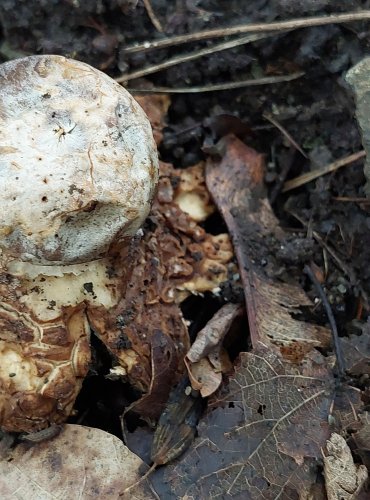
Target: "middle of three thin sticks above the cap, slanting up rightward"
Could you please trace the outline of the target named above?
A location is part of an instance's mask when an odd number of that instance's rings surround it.
[[[194,61],[194,59],[199,59],[200,57],[208,56],[209,54],[213,54],[214,52],[233,49],[234,47],[245,45],[247,43],[254,42],[255,40],[266,38],[268,36],[270,36],[270,34],[255,34],[237,38],[235,40],[229,40],[228,42],[219,43],[217,45],[213,45],[212,47],[207,47],[206,49],[196,50],[194,52],[190,52],[187,54],[181,54],[171,59],[167,59],[166,61],[163,61],[159,64],[154,64],[153,66],[148,66],[147,68],[139,69],[138,71],[134,71],[133,73],[124,73],[123,75],[120,75],[119,77],[115,78],[115,80],[118,83],[122,83],[122,82],[127,82],[128,80],[133,80],[134,78],[141,78],[142,76],[150,75],[152,73],[157,73],[158,71],[162,71],[163,69],[170,68],[171,66],[175,66],[177,64],[181,64],[188,61]]]

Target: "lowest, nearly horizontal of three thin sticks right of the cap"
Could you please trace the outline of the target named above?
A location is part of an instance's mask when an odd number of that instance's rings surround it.
[[[201,87],[152,87],[150,89],[136,89],[126,87],[133,94],[198,94],[200,92],[216,92],[219,90],[240,89],[242,87],[253,87],[255,85],[269,85],[280,82],[290,82],[300,76],[303,72],[291,73],[290,75],[265,76],[263,78],[252,78],[250,80],[240,80],[239,82],[216,83],[215,85],[204,85]]]

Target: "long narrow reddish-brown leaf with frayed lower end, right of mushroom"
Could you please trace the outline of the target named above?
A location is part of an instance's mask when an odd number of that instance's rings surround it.
[[[223,157],[209,159],[206,182],[233,238],[252,344],[271,345],[299,362],[312,347],[328,347],[330,332],[292,317],[311,302],[296,282],[277,277],[274,249],[285,235],[266,197],[263,156],[234,136],[219,149]]]

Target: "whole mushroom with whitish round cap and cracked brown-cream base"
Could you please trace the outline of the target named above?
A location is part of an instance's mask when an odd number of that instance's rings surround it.
[[[62,422],[90,359],[86,308],[119,300],[158,179],[148,119],[61,56],[0,65],[0,427]]]

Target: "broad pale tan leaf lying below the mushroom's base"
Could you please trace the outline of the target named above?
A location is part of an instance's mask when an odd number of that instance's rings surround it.
[[[19,444],[0,462],[6,500],[118,499],[147,465],[120,439],[100,429],[65,425],[50,441]],[[121,498],[155,498],[146,483]]]

